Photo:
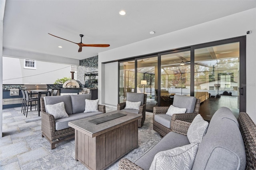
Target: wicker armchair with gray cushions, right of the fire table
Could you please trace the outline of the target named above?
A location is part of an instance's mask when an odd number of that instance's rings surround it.
[[[174,106],[175,107],[180,107],[180,105],[182,105],[182,103],[180,103],[179,106],[176,106],[175,103],[177,102],[177,100],[175,101],[175,98],[180,98],[183,101],[186,100],[185,98],[186,96],[180,96],[180,95],[175,95],[174,96]],[[191,98],[190,98],[191,99]],[[194,98],[196,99],[196,98]],[[186,102],[186,101],[184,101]],[[180,107],[182,108],[182,107]],[[161,123],[158,123],[155,120],[155,116],[158,114],[166,114],[166,112],[168,111],[169,107],[154,107],[153,108],[153,130],[155,130],[156,132],[158,132],[161,136],[165,136],[167,133],[171,132],[174,126],[174,121],[176,120],[181,120],[181,121],[186,121],[191,123],[194,119],[194,117],[196,117],[196,115],[199,113],[199,109],[200,109],[200,99],[196,99],[196,103],[194,106],[194,111],[193,113],[180,113],[180,114],[173,114],[171,117],[171,121],[170,121],[170,128],[162,125]]]

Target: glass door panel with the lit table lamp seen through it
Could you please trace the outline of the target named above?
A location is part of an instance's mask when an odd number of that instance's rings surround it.
[[[137,93],[147,95],[146,111],[153,111],[157,104],[157,70],[158,57],[149,57],[137,60]]]

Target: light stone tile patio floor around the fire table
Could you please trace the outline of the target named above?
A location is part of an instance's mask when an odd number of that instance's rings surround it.
[[[106,112],[116,110],[106,107]],[[3,137],[0,138],[0,170],[87,170],[76,161],[74,139],[56,144],[42,138],[41,117],[37,111],[22,115],[21,107],[3,109]],[[138,130],[139,147],[124,156],[132,162],[140,158],[160,139],[153,130],[152,113],[146,113],[144,126]],[[118,161],[107,168],[118,170]]]

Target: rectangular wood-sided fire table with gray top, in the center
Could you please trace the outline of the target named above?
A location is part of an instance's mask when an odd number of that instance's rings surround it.
[[[89,120],[124,113],[119,117],[95,125]],[[86,113],[84,113],[86,114]],[[93,117],[70,121],[75,129],[75,159],[87,168],[103,170],[138,147],[138,119],[142,115],[125,111],[112,111]]]

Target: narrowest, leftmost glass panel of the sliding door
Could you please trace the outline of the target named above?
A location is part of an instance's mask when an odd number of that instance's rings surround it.
[[[126,101],[126,93],[134,92],[135,88],[135,61],[119,63],[119,103]]]

